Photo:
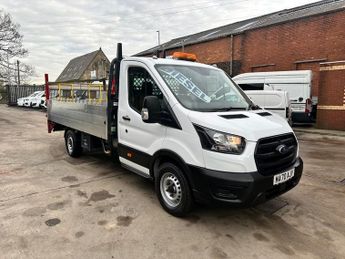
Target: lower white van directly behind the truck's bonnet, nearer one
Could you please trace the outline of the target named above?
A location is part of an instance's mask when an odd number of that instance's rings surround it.
[[[249,90],[245,91],[245,94],[253,103],[265,110],[278,114],[291,125],[291,105],[287,91]]]

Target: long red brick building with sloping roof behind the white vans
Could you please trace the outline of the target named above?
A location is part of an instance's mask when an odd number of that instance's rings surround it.
[[[137,55],[171,55],[182,49],[195,53],[199,62],[217,64],[231,76],[310,69],[313,71],[312,95],[320,97],[318,114],[322,114],[323,109],[328,109],[326,106],[338,106],[337,98],[344,98],[342,89],[342,95],[330,101],[326,96],[332,96],[333,88],[323,82],[323,94],[319,96],[319,87],[320,63],[345,60],[345,0],[324,0],[228,24],[172,39]],[[341,78],[343,76],[339,76],[339,80]],[[329,83],[334,81],[337,80]],[[327,111],[329,114],[332,110]],[[340,105],[338,114],[339,111],[345,116],[345,106]],[[320,127],[345,130],[344,120],[335,118],[335,122],[328,123],[330,117],[324,115],[322,119],[326,122],[318,121]]]

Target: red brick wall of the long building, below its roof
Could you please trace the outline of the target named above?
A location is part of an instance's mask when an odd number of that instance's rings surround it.
[[[170,50],[168,54],[174,51],[181,51],[181,48]],[[345,130],[345,110],[342,108],[345,107],[342,106],[345,76],[335,71],[320,73],[321,61],[345,60],[345,11],[235,35],[232,55],[230,37],[186,46],[185,51],[195,53],[199,62],[206,64],[229,62],[233,56],[233,75],[312,70],[312,95],[319,97],[321,105],[317,112],[318,127]]]

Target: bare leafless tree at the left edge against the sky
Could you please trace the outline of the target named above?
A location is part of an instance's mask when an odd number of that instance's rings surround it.
[[[18,30],[19,24],[13,22],[11,15],[0,10],[0,81],[7,84],[17,83],[16,59],[28,54]],[[24,63],[20,63],[19,71],[24,83],[35,73],[32,66]]]

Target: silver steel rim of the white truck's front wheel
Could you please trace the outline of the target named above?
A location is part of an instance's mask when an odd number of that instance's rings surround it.
[[[171,208],[180,205],[182,201],[182,188],[178,178],[170,173],[164,173],[160,180],[160,192],[164,202]]]

